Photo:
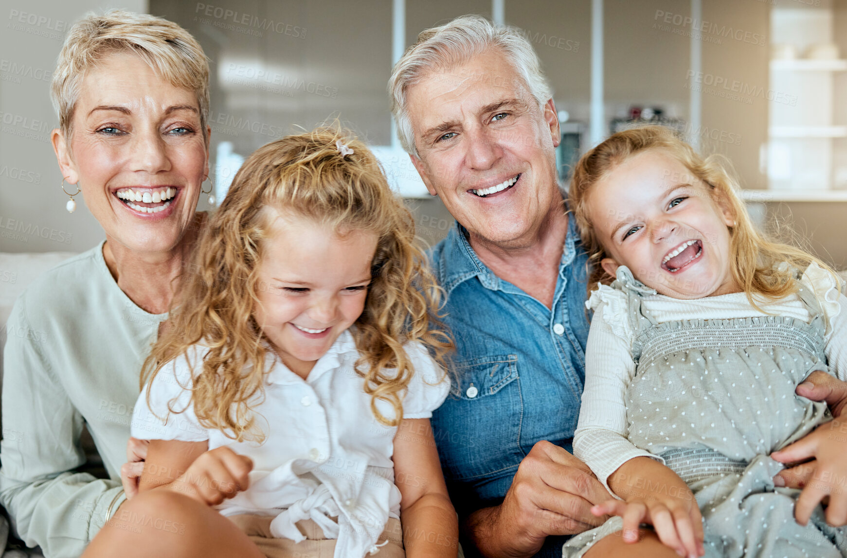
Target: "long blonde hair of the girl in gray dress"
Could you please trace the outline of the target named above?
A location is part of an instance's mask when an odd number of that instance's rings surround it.
[[[753,226],[738,196],[739,185],[722,157],[700,157],[673,130],[664,126],[644,126],[611,135],[585,153],[573,169],[568,207],[577,220],[582,245],[589,254],[589,291],[599,283],[608,285],[614,280],[600,265],[601,260],[609,256],[591,224],[587,203],[591,188],[617,165],[648,149],[661,149],[675,157],[706,184],[713,200],[730,208],[735,220],[734,226],[728,228],[733,279],[754,307],[758,308],[757,298],[759,302],[775,301],[796,292],[796,270],[807,268],[811,262],[832,273],[840,285],[833,269],[820,259],[795,246],[771,240]],[[780,265],[783,262],[788,265]]]

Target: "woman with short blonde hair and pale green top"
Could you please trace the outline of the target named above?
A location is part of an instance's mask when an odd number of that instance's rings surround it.
[[[90,15],[69,31],[52,97],[64,202],[81,194],[105,240],[37,279],[9,318],[34,334],[5,348],[3,429],[16,435],[0,445],[0,503],[26,544],[77,556],[125,499],[141,363],[202,226],[208,61],[165,19]],[[108,479],[75,472],[83,423]]]

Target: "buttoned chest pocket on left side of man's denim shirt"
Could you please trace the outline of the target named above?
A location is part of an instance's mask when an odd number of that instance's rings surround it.
[[[454,388],[432,420],[447,480],[517,467],[525,457],[518,356],[454,359],[452,364]]]

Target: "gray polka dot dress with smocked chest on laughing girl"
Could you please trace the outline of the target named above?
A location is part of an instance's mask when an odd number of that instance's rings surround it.
[[[612,286],[627,293],[635,332],[628,439],[689,485],[704,518],[706,556],[847,557],[847,529],[828,526],[822,506],[801,526],[794,520],[800,490],[772,482],[783,465],[769,454],[831,418],[826,404],[794,394],[811,371],[827,370],[815,296],[798,293],[811,323],[781,316],[656,323],[641,304],[648,289],[623,269]],[[621,528],[612,517],[570,539],[563,555],[581,556]]]

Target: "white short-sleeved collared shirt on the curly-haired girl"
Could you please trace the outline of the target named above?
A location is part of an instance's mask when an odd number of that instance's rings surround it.
[[[429,418],[450,389],[440,368],[418,344],[404,346],[414,376],[401,398],[404,418]],[[304,380],[268,351],[264,395],[251,409],[261,445],[236,442],[218,429],[202,427],[190,404],[188,359],[200,362],[202,346],[192,347],[163,367],[153,379],[150,407],[141,390],[132,420],[139,439],[208,440],[209,450],[222,445],[253,461],[250,488],[217,509],[224,516],[254,513],[274,516],[275,537],[302,540],[294,523],[311,518],[329,538],[338,538],[335,556],[362,556],[376,542],[388,517],[400,517],[400,490],[394,484],[394,436],[397,428],[380,424],[370,410],[364,378],[353,368],[359,357],[352,334],[345,331],[315,363]],[[195,366],[195,373],[200,367]],[[174,412],[169,412],[170,408]],[[376,401],[385,417],[394,411]],[[177,413],[185,409],[185,412]],[[151,412],[152,410],[152,412]],[[162,419],[157,417],[163,417]],[[328,517],[338,517],[338,523]]]

